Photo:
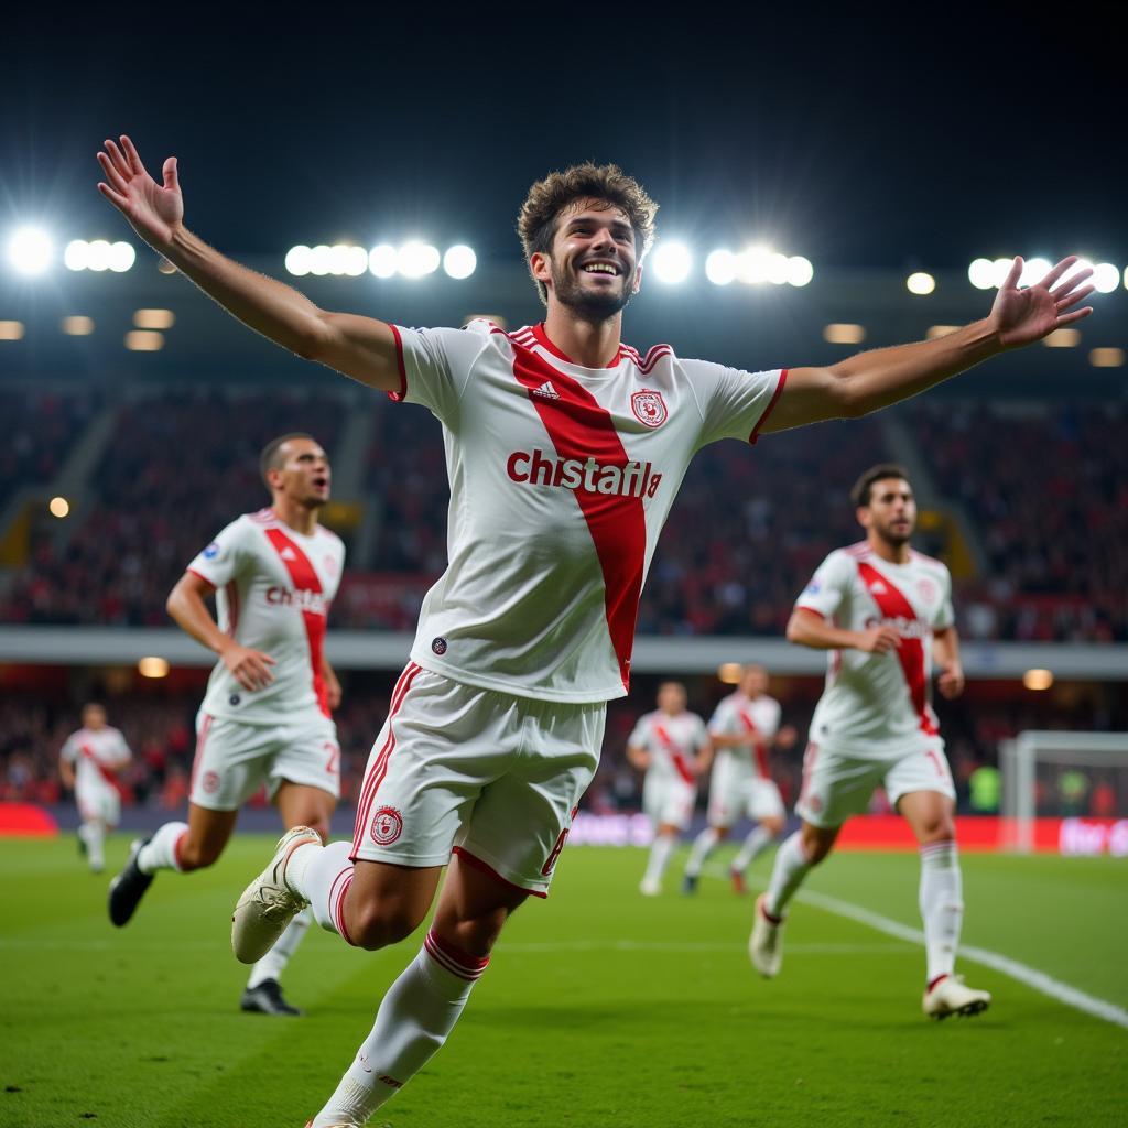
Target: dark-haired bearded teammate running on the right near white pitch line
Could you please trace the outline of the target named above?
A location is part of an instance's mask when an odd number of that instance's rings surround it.
[[[932,663],[944,697],[963,691],[948,569],[914,552],[916,500],[899,466],[865,472],[851,493],[866,538],[832,552],[799,597],[787,637],[828,650],[827,688],[811,719],[796,804],[802,826],[776,854],[749,941],[764,976],[779,971],[784,911],[841,825],[883,785],[920,844],[925,1014],[977,1014],[990,995],[954,973],[963,919],[955,790],[929,704]]]

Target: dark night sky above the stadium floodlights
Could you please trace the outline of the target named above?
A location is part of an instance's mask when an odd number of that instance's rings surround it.
[[[422,236],[515,258],[528,185],[590,157],[636,175],[660,235],[697,246],[935,270],[1070,250],[1128,263],[1111,6],[735,21],[681,7],[694,18],[8,17],[0,230],[124,237],[94,153],[127,132],[150,171],[179,158],[188,224],[233,254]]]

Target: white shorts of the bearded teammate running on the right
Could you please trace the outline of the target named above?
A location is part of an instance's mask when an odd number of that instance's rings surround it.
[[[816,827],[840,827],[852,814],[869,809],[879,784],[895,810],[900,797],[914,791],[935,791],[955,800],[940,737],[923,737],[883,756],[858,756],[851,749],[810,743],[795,813]]]

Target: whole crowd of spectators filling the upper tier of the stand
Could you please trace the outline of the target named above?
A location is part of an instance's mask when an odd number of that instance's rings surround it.
[[[16,447],[35,437],[12,464],[14,481],[50,476],[95,405],[90,396],[0,399],[17,420]],[[350,562],[332,622],[409,632],[446,565],[444,448],[429,412],[382,398],[368,409],[362,477],[372,549]],[[302,390],[166,389],[120,402],[113,438],[71,519],[77,530],[60,537],[39,528],[29,566],[0,587],[0,622],[167,624],[165,597],[184,565],[214,531],[265,502],[261,447],[305,430],[332,452],[345,411],[335,396]],[[961,631],[1128,640],[1128,447],[1120,441],[1128,411],[931,400],[899,411],[922,439],[940,497],[962,505],[986,555],[981,575],[957,588]],[[640,632],[779,634],[826,553],[861,538],[847,492],[862,468],[890,455],[876,418],[761,435],[751,450],[706,448],[659,541]],[[915,544],[943,549],[923,531]]]

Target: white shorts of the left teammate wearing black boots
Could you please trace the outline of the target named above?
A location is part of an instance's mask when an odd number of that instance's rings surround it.
[[[237,811],[264,784],[273,799],[288,781],[341,796],[341,748],[329,717],[303,713],[281,724],[247,724],[200,711],[188,795],[196,807]]]

